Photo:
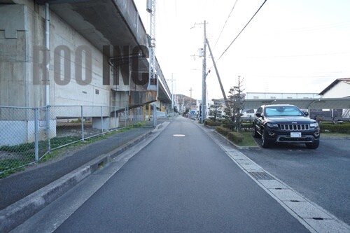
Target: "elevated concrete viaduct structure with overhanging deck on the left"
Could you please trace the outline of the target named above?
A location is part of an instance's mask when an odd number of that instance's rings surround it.
[[[148,80],[150,40],[134,1],[0,0],[0,15],[0,106],[105,106],[85,113],[94,127],[114,122],[109,107],[169,109],[158,61],[157,80]],[[79,116],[57,111],[43,120],[51,137],[57,118]],[[1,130],[9,120],[32,131],[28,116],[1,108]]]

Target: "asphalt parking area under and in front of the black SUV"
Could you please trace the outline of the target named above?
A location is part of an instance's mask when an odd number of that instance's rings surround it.
[[[256,139],[260,145],[260,139]],[[281,145],[241,150],[281,181],[350,225],[350,138],[321,136],[316,150]]]

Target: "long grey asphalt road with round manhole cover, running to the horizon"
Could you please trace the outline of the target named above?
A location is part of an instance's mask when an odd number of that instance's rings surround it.
[[[85,179],[17,232],[309,232],[192,120],[175,118],[120,167]]]

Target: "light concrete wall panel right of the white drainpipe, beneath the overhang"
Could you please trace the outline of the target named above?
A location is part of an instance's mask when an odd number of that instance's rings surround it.
[[[102,79],[102,64],[103,55],[102,52],[94,48],[83,36],[80,36],[74,29],[69,27],[63,20],[61,20],[57,15],[51,13],[50,15],[50,37],[52,38],[51,52],[50,52],[50,86],[52,86],[50,93],[50,105],[100,105],[100,106],[110,106],[110,86],[103,85]],[[55,50],[58,46],[64,45],[69,48],[70,56],[67,65],[64,65],[63,52],[60,52],[59,57],[60,62],[54,61]],[[76,57],[78,56],[79,46],[86,46],[92,52],[92,69],[88,69],[85,72],[85,59],[79,64],[76,62]],[[58,50],[57,50],[58,51]],[[84,56],[83,56],[84,58]],[[56,66],[61,63],[60,72],[58,73]],[[70,66],[70,80],[66,85],[60,85],[58,80],[54,78],[55,69],[56,75],[60,79],[64,80],[64,69]],[[83,67],[82,67],[83,66]],[[76,76],[76,69],[81,69],[82,80],[87,80],[87,73],[92,73],[92,80],[85,82],[83,84],[78,83],[78,77]]]

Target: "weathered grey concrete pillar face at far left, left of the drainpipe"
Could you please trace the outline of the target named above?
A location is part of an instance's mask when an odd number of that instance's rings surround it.
[[[27,106],[28,10],[0,5],[0,105]]]

